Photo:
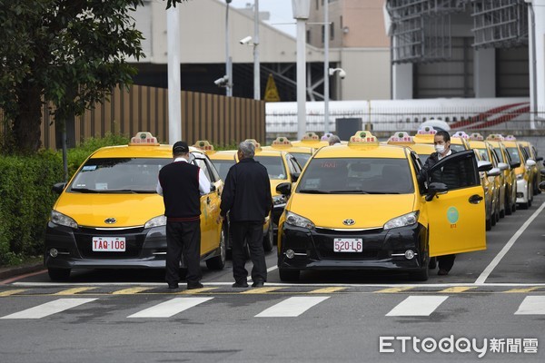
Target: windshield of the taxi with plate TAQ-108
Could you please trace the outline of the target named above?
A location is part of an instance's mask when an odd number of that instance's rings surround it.
[[[89,159],[75,175],[69,191],[154,193],[157,177],[170,158]]]

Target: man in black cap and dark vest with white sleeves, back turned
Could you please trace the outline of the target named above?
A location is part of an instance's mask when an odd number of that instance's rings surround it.
[[[210,181],[201,168],[189,162],[187,142],[174,143],[173,158],[159,172],[157,183],[166,216],[166,282],[169,289],[178,289],[183,254],[187,289],[200,289],[201,194],[210,192]]]

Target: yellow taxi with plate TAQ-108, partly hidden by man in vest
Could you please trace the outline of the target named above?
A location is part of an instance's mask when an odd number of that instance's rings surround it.
[[[225,265],[225,240],[216,219],[223,182],[206,154],[190,147],[191,162],[210,180],[201,196],[201,259],[212,270]],[[165,268],[166,218],[157,194],[158,174],[173,162],[173,148],[150,132],[128,145],[91,154],[60,195],[45,231],[44,263],[51,280],[66,280],[74,269]]]

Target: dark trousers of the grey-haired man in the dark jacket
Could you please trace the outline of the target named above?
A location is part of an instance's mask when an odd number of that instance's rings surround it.
[[[233,236],[233,277],[237,282],[245,282],[248,271],[244,267],[244,243],[250,247],[250,258],[253,262],[252,280],[267,280],[267,265],[263,250],[263,222],[232,221]]]

